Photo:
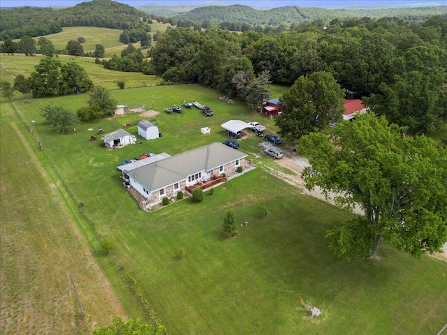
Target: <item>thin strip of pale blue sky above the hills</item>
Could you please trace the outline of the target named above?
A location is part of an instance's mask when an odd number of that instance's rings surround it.
[[[0,7],[17,6],[75,6],[78,3],[89,0],[0,0]],[[179,3],[207,4],[212,0],[116,0],[130,6],[142,6],[147,3],[158,3],[160,5],[175,5]],[[228,5],[238,3],[240,5],[253,7],[282,7],[282,6],[302,6],[302,7],[337,7],[337,6],[375,6],[375,5],[403,5],[415,3],[439,3],[447,5],[447,0],[215,0]]]

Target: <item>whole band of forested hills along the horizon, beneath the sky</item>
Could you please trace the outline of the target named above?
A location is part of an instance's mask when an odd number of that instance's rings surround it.
[[[159,10],[160,8],[165,8],[167,11]],[[195,29],[281,32],[309,22],[323,27],[335,18],[342,21],[357,20],[360,17],[379,19],[384,15],[400,17],[402,20],[425,20],[430,15],[447,15],[447,6],[386,9],[370,7],[353,10],[288,6],[259,10],[249,6],[219,6],[215,3],[214,6],[148,4],[133,8],[112,0],[93,0],[59,10],[49,7],[2,8],[0,40],[5,40],[6,37],[15,39],[54,34],[61,31],[62,27],[85,26],[131,30],[144,26],[142,22],[150,20]]]

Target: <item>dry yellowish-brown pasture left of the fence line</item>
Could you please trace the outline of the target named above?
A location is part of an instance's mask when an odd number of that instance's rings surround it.
[[[9,103],[1,104],[0,119],[0,333],[45,334],[59,304],[50,334],[88,334],[112,315],[140,315],[122,281],[105,276],[115,267],[99,260],[101,268],[89,256],[96,235],[82,226],[85,221],[45,152],[34,150],[36,134],[24,131]],[[71,274],[84,318],[69,285]]]

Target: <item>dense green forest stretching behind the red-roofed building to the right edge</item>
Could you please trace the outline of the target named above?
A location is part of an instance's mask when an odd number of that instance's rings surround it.
[[[151,51],[150,70],[170,82],[197,82],[247,101],[253,77],[291,86],[330,73],[354,96],[416,133],[447,121],[447,16],[332,20],[281,34],[219,29],[167,31]]]

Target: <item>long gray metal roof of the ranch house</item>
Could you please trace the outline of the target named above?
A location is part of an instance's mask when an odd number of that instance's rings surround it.
[[[221,165],[247,157],[241,151],[214,142],[161,161],[136,168],[127,172],[139,184],[149,191],[174,184],[186,179],[191,174],[213,170]]]

